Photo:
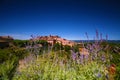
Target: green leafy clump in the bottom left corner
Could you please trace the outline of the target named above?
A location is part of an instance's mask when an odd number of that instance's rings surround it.
[[[17,67],[17,59],[7,60],[4,63],[0,64],[0,80],[11,80],[15,68]]]

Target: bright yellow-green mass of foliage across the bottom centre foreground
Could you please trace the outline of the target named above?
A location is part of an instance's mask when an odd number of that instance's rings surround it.
[[[53,54],[53,58],[51,58]],[[65,62],[66,61],[66,62]],[[72,59],[58,57],[56,53],[44,54],[16,72],[13,80],[103,80],[105,79],[104,65],[97,62],[84,66],[74,63]]]

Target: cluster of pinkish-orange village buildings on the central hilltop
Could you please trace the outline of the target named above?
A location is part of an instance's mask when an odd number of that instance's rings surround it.
[[[61,38],[59,36],[38,36],[36,38],[37,40],[46,40],[48,43],[50,44],[55,44],[55,43],[61,43],[62,45],[69,45],[69,46],[73,46],[75,44],[75,42]]]

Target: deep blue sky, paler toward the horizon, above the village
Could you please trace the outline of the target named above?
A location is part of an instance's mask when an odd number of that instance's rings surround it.
[[[0,36],[120,40],[120,0],[0,0]]]

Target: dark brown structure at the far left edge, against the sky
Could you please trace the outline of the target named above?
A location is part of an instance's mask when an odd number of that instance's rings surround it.
[[[11,45],[14,39],[10,36],[0,36],[0,48],[5,48]]]

